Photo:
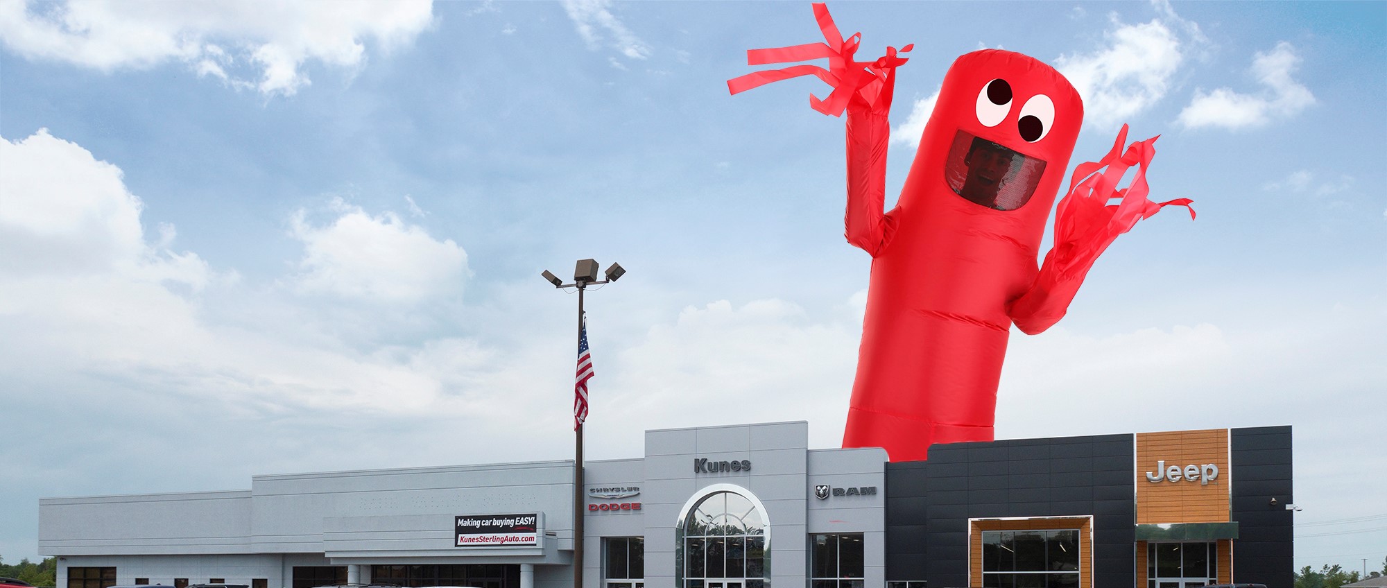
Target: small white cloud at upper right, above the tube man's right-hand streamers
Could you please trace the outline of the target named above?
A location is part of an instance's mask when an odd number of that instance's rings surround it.
[[[1291,79],[1301,58],[1295,47],[1280,42],[1270,53],[1258,51],[1251,74],[1264,86],[1259,94],[1240,94],[1229,87],[1194,90],[1179,122],[1187,129],[1219,126],[1229,130],[1262,126],[1276,118],[1290,118],[1315,104],[1309,89]]]

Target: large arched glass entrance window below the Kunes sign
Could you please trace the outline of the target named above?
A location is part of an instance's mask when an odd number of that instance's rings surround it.
[[[745,488],[714,484],[684,506],[677,528],[680,588],[766,588],[770,523]]]

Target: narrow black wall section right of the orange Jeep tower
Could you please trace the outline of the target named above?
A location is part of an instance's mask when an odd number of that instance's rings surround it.
[[[1272,585],[1294,581],[1291,427],[1233,429],[1229,434],[1233,580]],[[1272,498],[1276,503],[1272,505]]]

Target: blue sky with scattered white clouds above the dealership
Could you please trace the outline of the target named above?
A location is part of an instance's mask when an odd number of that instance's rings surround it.
[[[1194,200],[1013,333],[999,437],[1291,424],[1298,523],[1387,514],[1387,3],[829,10],[915,44],[888,201],[983,47],[1079,87],[1071,166],[1126,122],[1153,200]],[[576,301],[538,273],[577,258],[630,270],[588,297],[589,458],[836,447],[870,265],[842,119],[724,83],[817,40],[807,3],[0,3],[0,555],[37,555],[39,496],[570,458]],[[1380,519],[1297,534],[1297,566],[1387,556]]]

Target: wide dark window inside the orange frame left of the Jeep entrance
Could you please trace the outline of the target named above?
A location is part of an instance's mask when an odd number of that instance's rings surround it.
[[[1079,530],[983,531],[986,588],[1078,588]]]

